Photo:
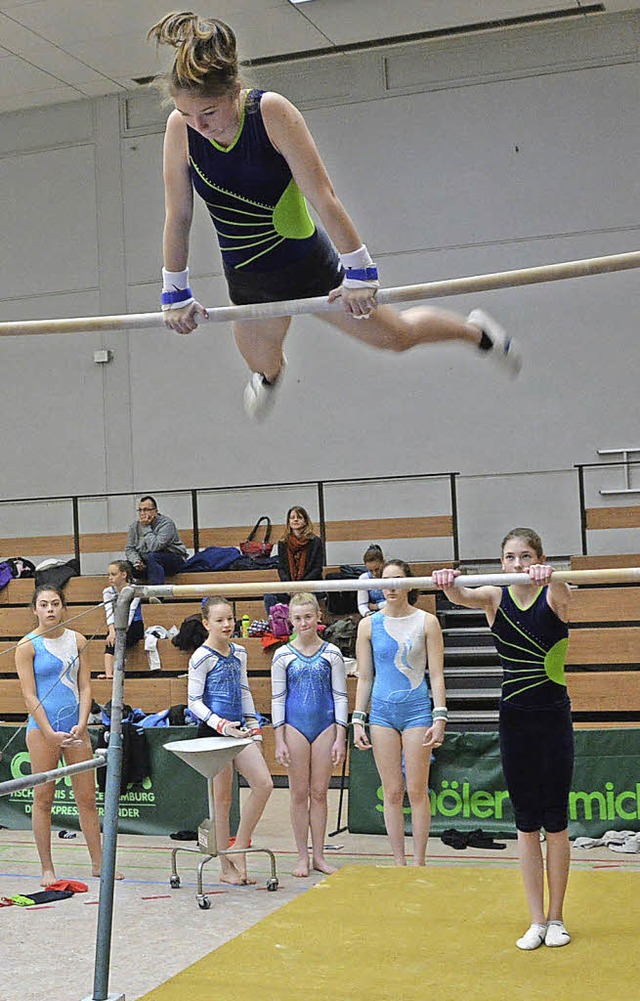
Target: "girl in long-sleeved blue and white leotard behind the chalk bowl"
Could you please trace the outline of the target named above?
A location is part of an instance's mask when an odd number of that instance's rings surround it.
[[[198,737],[247,737],[230,765],[213,778],[215,837],[218,845],[229,843],[229,812],[233,769],[246,779],[250,793],[242,806],[234,848],[248,848],[255,825],[271,795],[273,782],[262,757],[262,733],[258,724],[246,674],[246,651],[231,643],[235,619],[224,598],[202,603],[206,642],[189,661],[188,706],[200,720]],[[246,874],[246,856],[220,855],[220,881],[242,885],[254,883]]]

